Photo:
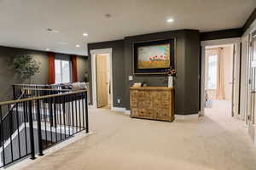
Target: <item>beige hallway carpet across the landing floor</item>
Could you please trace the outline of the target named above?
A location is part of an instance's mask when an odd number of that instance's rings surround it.
[[[208,110],[196,121],[157,122],[90,109],[94,133],[24,170],[255,170],[243,122]]]

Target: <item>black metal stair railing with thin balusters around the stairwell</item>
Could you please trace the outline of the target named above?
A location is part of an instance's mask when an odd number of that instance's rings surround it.
[[[26,156],[32,159],[36,154],[43,156],[44,149],[51,145],[81,131],[89,132],[86,90],[23,88],[22,91],[24,97],[0,103],[0,167]],[[5,110],[9,111],[6,116]]]

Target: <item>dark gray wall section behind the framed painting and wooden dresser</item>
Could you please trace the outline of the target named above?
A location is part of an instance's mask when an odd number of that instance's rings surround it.
[[[125,107],[130,109],[129,88],[134,82],[148,86],[167,86],[163,75],[133,75],[133,43],[176,38],[175,114],[188,115],[199,111],[200,33],[195,30],[166,31],[125,37]],[[133,81],[128,77],[133,76]]]

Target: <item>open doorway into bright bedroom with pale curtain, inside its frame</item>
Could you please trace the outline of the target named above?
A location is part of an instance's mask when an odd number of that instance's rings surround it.
[[[234,116],[234,44],[206,46],[205,115]]]

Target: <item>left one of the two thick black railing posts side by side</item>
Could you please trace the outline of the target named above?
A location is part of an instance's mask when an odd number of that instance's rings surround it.
[[[30,150],[31,159],[34,160],[35,157],[35,144],[34,144],[34,129],[33,129],[33,119],[32,119],[32,101],[28,102],[28,114],[29,114],[29,133],[30,133]]]

